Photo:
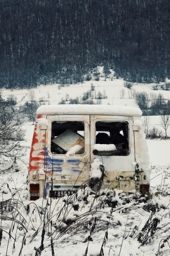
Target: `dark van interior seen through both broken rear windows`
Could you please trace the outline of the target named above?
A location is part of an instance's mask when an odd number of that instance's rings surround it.
[[[81,145],[81,149],[75,154],[83,154],[86,139],[84,126],[84,122],[81,121],[53,121],[51,125],[51,152],[53,154],[66,154],[74,146]],[[95,123],[94,144],[114,144],[116,146],[117,150],[105,151],[102,152],[102,155],[128,155],[128,122],[97,121]],[[100,152],[96,151],[93,154],[101,155]]]

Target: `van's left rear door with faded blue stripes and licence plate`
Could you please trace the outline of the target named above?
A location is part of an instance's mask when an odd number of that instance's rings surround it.
[[[56,114],[47,115],[47,119],[44,168],[48,179],[45,190],[46,195],[53,193],[60,197],[64,191],[76,190],[89,180],[90,116]],[[51,179],[53,192],[50,192]]]

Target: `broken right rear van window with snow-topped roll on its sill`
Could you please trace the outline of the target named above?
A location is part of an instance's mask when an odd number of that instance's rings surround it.
[[[129,154],[129,128],[128,122],[96,122],[95,155],[126,156]],[[100,144],[100,145],[97,145]],[[108,147],[102,144],[109,145]],[[115,145],[115,146],[114,146]],[[107,149],[108,148],[108,149]]]

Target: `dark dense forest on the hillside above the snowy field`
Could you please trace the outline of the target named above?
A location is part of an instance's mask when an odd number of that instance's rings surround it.
[[[0,0],[0,86],[75,83],[104,65],[117,77],[170,77],[167,0]]]

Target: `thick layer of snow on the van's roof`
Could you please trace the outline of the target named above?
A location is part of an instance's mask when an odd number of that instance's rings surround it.
[[[137,107],[115,106],[115,105],[87,105],[87,104],[64,104],[64,105],[42,105],[37,111],[39,114],[102,114],[141,116],[142,111]]]

